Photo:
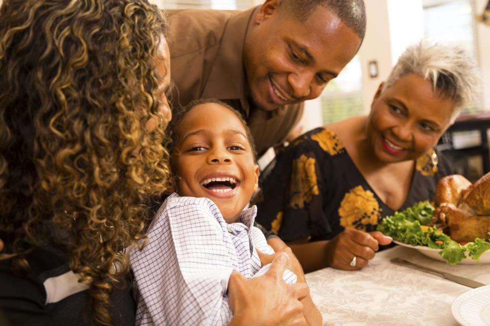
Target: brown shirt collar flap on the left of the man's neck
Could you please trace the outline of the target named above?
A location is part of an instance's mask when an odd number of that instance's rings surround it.
[[[248,114],[247,76],[243,68],[243,43],[256,7],[228,20],[202,98],[239,99]]]

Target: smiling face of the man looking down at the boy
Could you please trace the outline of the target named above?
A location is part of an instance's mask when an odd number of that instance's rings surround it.
[[[305,20],[267,0],[252,17],[243,62],[254,102],[262,110],[313,99],[354,57],[360,38],[323,6]]]

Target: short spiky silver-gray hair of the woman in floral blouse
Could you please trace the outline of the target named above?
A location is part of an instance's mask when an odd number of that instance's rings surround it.
[[[475,61],[461,47],[425,40],[407,47],[402,53],[382,92],[410,73],[429,80],[434,94],[454,101],[451,120],[476,100],[481,81]]]

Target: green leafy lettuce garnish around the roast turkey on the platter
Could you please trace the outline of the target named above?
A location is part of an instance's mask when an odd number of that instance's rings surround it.
[[[422,225],[430,225],[434,211],[434,207],[428,201],[415,203],[401,212],[386,216],[377,230],[412,246],[440,249],[439,255],[451,265],[466,258],[467,252],[468,256],[479,261],[481,254],[490,250],[490,242],[480,238],[461,246],[448,235],[432,227],[429,227],[428,231],[422,230]],[[488,235],[490,237],[490,232]]]

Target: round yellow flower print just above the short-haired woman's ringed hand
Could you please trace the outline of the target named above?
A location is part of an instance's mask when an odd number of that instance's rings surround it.
[[[378,224],[381,209],[374,194],[358,185],[342,199],[338,214],[340,225],[345,228],[365,230],[367,225]]]

